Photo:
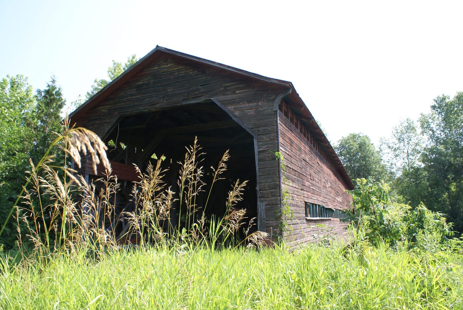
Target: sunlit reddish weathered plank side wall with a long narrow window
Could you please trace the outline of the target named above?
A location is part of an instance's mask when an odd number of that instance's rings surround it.
[[[305,202],[317,203],[334,209],[350,206],[351,197],[338,172],[327,163],[299,130],[282,113],[278,115],[280,152],[286,164],[284,177],[294,220],[293,231],[285,234],[285,240],[297,245],[317,240],[327,234],[344,234],[346,222],[338,219],[307,220]],[[284,188],[284,184],[282,184]]]

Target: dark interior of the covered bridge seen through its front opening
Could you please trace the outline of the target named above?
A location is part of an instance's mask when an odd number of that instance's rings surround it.
[[[108,131],[104,141],[109,147],[108,159],[113,166],[113,173],[118,176],[120,190],[116,195],[116,213],[119,216],[124,211],[137,208],[131,203],[130,192],[133,181],[137,180],[132,164],[137,164],[144,171],[148,164],[156,164],[157,158],[163,156],[163,181],[176,192],[179,198],[177,181],[179,179],[179,162],[185,160],[186,147],[193,145],[195,137],[201,147],[200,153],[206,183],[197,196],[197,205],[201,207],[207,199],[212,183],[213,170],[217,168],[224,152],[229,150],[230,159],[223,179],[214,183],[207,209],[206,218],[212,215],[219,217],[225,213],[225,202],[228,192],[237,179],[248,180],[243,200],[237,209],[247,210],[247,221],[257,217],[257,177],[254,137],[245,129],[239,120],[214,102],[187,104],[175,108],[146,112],[143,114],[124,115]],[[101,174],[100,171],[97,174]],[[87,169],[86,173],[94,172]],[[187,225],[185,210],[179,209],[176,201],[170,212],[170,225],[183,228]],[[257,221],[256,221],[257,222]],[[113,229],[116,235],[124,231],[125,220],[119,221],[116,227],[108,227],[114,223],[105,223],[106,229]],[[255,227],[257,229],[257,225]],[[255,230],[254,229],[254,230]]]

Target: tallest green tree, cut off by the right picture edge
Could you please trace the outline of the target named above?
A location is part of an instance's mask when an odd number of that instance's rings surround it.
[[[430,114],[421,114],[427,144],[421,155],[428,190],[424,196],[432,210],[446,213],[463,232],[463,92],[453,99],[434,99]]]

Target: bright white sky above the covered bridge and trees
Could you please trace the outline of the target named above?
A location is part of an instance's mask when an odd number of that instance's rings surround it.
[[[0,77],[68,102],[113,59],[156,44],[294,83],[335,143],[378,146],[400,119],[463,91],[463,1],[0,0]]]

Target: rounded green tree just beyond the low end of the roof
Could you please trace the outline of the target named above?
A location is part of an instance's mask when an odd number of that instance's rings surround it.
[[[334,149],[352,179],[373,177],[380,180],[386,176],[386,166],[368,136],[350,133],[342,137]]]

